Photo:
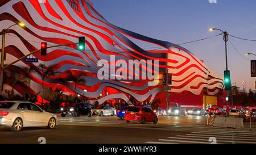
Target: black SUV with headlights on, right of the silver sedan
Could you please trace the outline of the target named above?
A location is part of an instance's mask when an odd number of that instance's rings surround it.
[[[62,117],[71,115],[73,117],[79,117],[80,115],[86,115],[89,118],[92,116],[92,106],[88,103],[76,103],[70,107],[60,108],[60,114]]]

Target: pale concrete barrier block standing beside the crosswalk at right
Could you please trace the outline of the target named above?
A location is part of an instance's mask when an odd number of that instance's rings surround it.
[[[226,116],[215,116],[213,126],[241,129],[243,128],[243,119]]]

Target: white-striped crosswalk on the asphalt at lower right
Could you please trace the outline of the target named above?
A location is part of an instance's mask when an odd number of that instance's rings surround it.
[[[197,132],[187,133],[185,135],[170,136],[166,139],[158,139],[158,141],[150,141],[148,143],[196,143],[210,144],[210,137],[216,138],[216,143],[240,143],[240,144],[256,144],[256,132],[248,130],[214,128],[200,130]]]

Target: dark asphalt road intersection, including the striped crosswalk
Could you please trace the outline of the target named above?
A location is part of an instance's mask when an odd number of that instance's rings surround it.
[[[59,118],[55,129],[23,128],[11,132],[0,127],[0,143],[256,143],[256,131],[225,129],[205,125],[205,116],[160,116],[158,124],[126,123],[116,116]],[[214,141],[214,139],[213,139]]]

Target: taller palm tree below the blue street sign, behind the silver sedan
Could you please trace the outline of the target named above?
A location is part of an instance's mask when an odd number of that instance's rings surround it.
[[[38,67],[36,66],[31,66],[31,68],[29,69],[29,72],[34,72],[34,73],[38,73],[39,76],[42,78],[42,88],[41,88],[41,93],[42,93],[42,100],[41,100],[41,104],[43,107],[43,98],[44,98],[44,81],[49,77],[49,76],[54,76],[56,73],[58,72],[54,72],[53,71],[53,65],[49,66],[48,68],[46,68],[46,65],[44,64],[39,64]]]

